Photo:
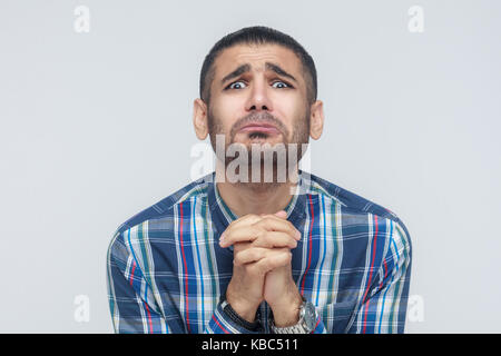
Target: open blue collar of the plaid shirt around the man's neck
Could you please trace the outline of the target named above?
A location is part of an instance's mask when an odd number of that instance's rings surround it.
[[[223,200],[217,185],[215,181],[216,172],[210,175],[210,179],[207,185],[207,199],[213,218],[213,224],[217,234],[223,234],[228,225],[237,219],[237,216],[232,211],[232,209]],[[296,191],[293,195],[287,207],[284,209],[287,212],[287,220],[297,226],[299,221],[305,217],[305,205],[306,205],[306,194],[310,190],[310,179],[308,174],[298,170],[298,181],[296,186]]]

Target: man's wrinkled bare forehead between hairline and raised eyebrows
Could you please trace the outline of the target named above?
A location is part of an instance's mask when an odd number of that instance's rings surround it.
[[[236,44],[225,49],[215,60],[215,78],[222,78],[238,66],[248,63],[252,70],[264,71],[265,63],[278,65],[285,71],[301,77],[299,58],[286,47],[266,44]]]

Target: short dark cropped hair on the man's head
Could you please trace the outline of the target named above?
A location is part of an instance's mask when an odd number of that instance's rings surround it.
[[[291,36],[285,34],[275,29],[254,26],[243,28],[236,32],[223,37],[214,44],[209,53],[205,57],[200,71],[200,98],[206,103],[210,100],[210,85],[214,80],[215,68],[214,61],[217,56],[227,48],[236,44],[265,44],[275,43],[291,49],[299,58],[303,63],[303,76],[306,81],[306,93],[310,103],[316,100],[316,69],[313,58],[306,50]]]

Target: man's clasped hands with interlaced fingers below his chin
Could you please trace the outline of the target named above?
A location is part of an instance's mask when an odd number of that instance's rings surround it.
[[[292,277],[292,253],[301,233],[281,210],[273,215],[249,214],[233,221],[223,233],[219,245],[234,246],[234,268],[226,300],[248,322],[266,300],[276,326],[298,320],[302,297]]]

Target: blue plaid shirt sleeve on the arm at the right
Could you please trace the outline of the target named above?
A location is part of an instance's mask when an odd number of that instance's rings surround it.
[[[411,239],[402,221],[392,221],[387,253],[348,334],[402,334],[411,278]]]

